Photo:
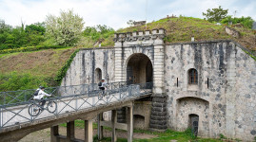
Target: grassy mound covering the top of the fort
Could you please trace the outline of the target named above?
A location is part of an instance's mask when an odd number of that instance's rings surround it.
[[[165,41],[170,43],[190,42],[191,37],[195,41],[211,40],[234,40],[250,50],[256,51],[255,30],[247,28],[235,28],[241,32],[242,37],[237,39],[226,34],[225,26],[216,25],[207,20],[193,17],[177,17],[161,19],[156,22],[148,23],[147,29],[165,28],[167,37]],[[146,30],[146,26],[128,27],[118,30],[118,32],[132,32]]]

